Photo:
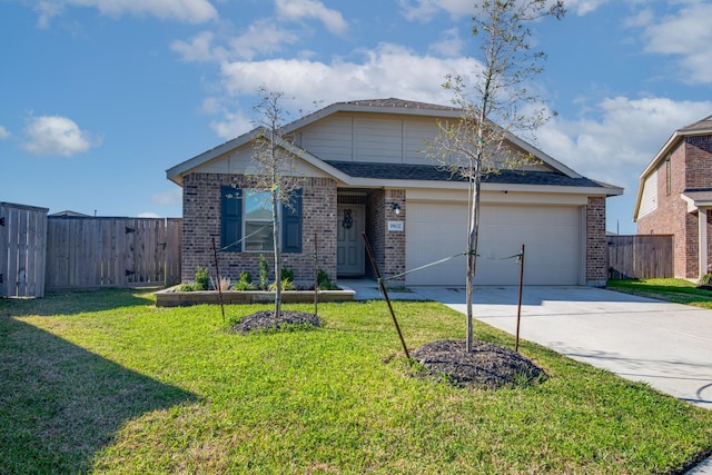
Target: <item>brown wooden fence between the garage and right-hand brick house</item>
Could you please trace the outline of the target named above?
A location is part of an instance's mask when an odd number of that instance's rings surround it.
[[[609,236],[609,278],[674,277],[673,236]]]

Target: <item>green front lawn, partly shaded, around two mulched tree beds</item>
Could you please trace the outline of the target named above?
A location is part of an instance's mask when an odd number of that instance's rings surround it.
[[[267,307],[222,321],[217,306],[152,303],[0,300],[0,473],[641,474],[712,449],[712,412],[526,342],[550,376],[537,386],[411,377],[383,301],[323,304],[324,328],[249,336],[227,329]],[[411,348],[464,335],[439,304],[394,307]]]

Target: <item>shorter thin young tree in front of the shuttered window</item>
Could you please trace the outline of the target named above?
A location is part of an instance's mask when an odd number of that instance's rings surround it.
[[[259,128],[253,141],[253,161],[256,171],[251,175],[253,191],[266,192],[271,209],[271,232],[275,265],[275,317],[281,314],[281,232],[283,206],[290,205],[291,192],[299,188],[300,179],[295,171],[294,155],[285,136],[288,111],[283,107],[284,92],[260,87],[260,100],[254,108],[254,125]]]

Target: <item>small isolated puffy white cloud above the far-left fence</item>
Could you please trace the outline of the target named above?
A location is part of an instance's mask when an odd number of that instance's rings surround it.
[[[71,157],[98,145],[73,120],[61,116],[32,117],[24,133],[22,148],[34,155]]]

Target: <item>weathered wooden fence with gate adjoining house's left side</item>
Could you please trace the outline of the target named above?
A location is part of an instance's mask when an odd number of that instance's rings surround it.
[[[178,218],[49,217],[46,289],[180,283]]]

